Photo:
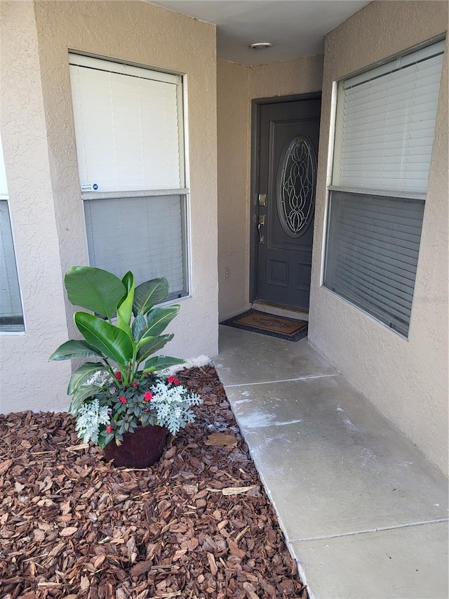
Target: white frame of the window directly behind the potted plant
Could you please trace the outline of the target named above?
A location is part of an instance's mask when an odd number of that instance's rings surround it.
[[[156,81],[166,81],[167,83],[173,83],[176,81],[177,85],[177,122],[179,131],[178,151],[179,151],[179,167],[180,167],[180,185],[178,187],[170,187],[164,189],[133,189],[133,190],[108,190],[102,191],[100,189],[93,190],[88,188],[86,185],[81,185],[81,199],[83,204],[86,202],[100,200],[100,199],[151,199],[151,198],[162,198],[169,196],[179,196],[181,206],[181,228],[182,228],[182,270],[183,270],[183,284],[182,289],[177,289],[175,292],[170,293],[167,301],[173,301],[179,298],[185,298],[192,296],[192,275],[191,275],[191,261],[189,260],[189,249],[192,246],[190,239],[190,202],[189,202],[189,156],[188,156],[188,119],[187,119],[187,76],[185,74],[178,74],[172,72],[163,72],[161,70],[155,70],[152,67],[144,65],[135,65],[128,62],[122,62],[119,60],[103,59],[92,55],[85,55],[82,53],[69,51],[69,63],[70,65],[80,65],[85,67],[95,68],[96,70],[105,70],[117,74],[128,74],[134,75],[143,79],[154,79]],[[86,218],[84,219],[85,225]],[[86,229],[86,244],[87,241],[87,229]],[[89,253],[88,253],[89,254]],[[91,262],[91,256],[89,255],[89,261]],[[133,270],[133,265],[130,264],[129,270]],[[123,272],[124,274],[124,272]],[[153,276],[165,276],[163,273],[157,275],[149,275],[147,279]]]

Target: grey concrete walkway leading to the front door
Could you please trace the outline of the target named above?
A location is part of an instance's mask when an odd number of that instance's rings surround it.
[[[307,339],[220,327],[215,367],[316,599],[448,599],[448,481]]]

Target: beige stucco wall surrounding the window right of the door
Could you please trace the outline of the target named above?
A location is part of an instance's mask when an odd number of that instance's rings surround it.
[[[405,340],[320,287],[335,79],[441,34],[445,2],[373,2],[326,37],[309,341],[443,471],[448,467],[448,48]]]

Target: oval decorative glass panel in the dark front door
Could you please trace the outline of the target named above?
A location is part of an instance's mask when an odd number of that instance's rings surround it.
[[[314,147],[306,137],[296,137],[283,150],[276,189],[279,220],[289,237],[301,237],[311,221],[315,181]]]

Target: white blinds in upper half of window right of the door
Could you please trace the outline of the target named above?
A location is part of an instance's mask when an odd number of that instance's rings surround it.
[[[340,84],[333,185],[425,193],[444,41]]]

